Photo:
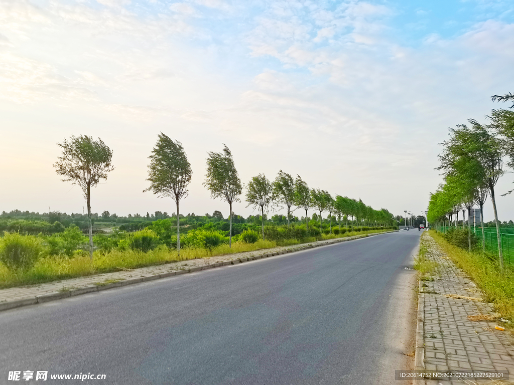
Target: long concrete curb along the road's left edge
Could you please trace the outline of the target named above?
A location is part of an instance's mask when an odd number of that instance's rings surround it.
[[[0,302],[0,312],[2,312],[4,310],[15,309],[16,307],[29,306],[29,305],[34,305],[37,303],[44,303],[44,302],[59,300],[59,299],[63,299],[63,298],[75,297],[78,295],[94,293],[94,292],[98,292],[98,291],[104,291],[104,290],[108,290],[108,289],[115,288],[115,287],[128,286],[128,285],[133,285],[136,283],[148,282],[148,281],[153,281],[156,279],[168,278],[168,277],[173,277],[173,276],[182,275],[182,274],[186,274],[186,273],[195,273],[195,272],[207,270],[207,269],[214,268],[214,267],[235,265],[237,263],[243,263],[243,262],[252,261],[255,259],[269,258],[269,257],[277,256],[277,255],[283,255],[286,253],[296,253],[296,252],[304,251],[309,248],[329,246],[329,245],[333,245],[335,243],[353,241],[356,239],[372,237],[374,235],[397,233],[397,232],[398,232],[398,230],[392,230],[392,231],[383,232],[383,233],[364,234],[364,235],[357,235],[357,236],[348,237],[348,238],[336,238],[336,239],[333,239],[331,242],[325,242],[325,243],[321,243],[321,244],[308,243],[302,247],[296,247],[293,249],[285,249],[280,252],[263,253],[263,254],[259,254],[256,256],[237,258],[237,259],[233,259],[233,260],[229,260],[229,261],[216,262],[213,264],[208,264],[208,265],[203,265],[203,266],[194,266],[194,267],[190,267],[188,269],[175,270],[172,272],[157,274],[157,275],[153,275],[153,276],[146,276],[146,277],[134,278],[134,279],[126,279],[126,280],[122,280],[122,281],[118,281],[118,282],[99,284],[99,285],[91,285],[91,286],[81,287],[81,288],[77,288],[77,289],[71,288],[70,290],[64,290],[64,291],[55,292],[55,293],[47,293],[47,294],[42,294],[42,295],[38,295],[38,296],[34,296],[34,297],[17,299],[14,301]]]

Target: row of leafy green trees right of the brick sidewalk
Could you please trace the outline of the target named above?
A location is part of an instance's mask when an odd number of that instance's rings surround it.
[[[514,94],[494,95],[492,100],[514,101]],[[486,119],[487,123],[470,119],[468,125],[461,124],[450,128],[450,139],[442,143],[440,166],[437,167],[443,171],[444,183],[431,195],[427,217],[429,222],[434,223],[451,222],[455,216],[456,223],[459,211],[463,210],[464,222],[464,213],[467,210],[468,248],[471,249],[471,208],[475,204],[480,207],[484,237],[483,207],[489,196],[497,228],[500,268],[503,271],[500,223],[494,188],[507,169],[514,169],[514,111],[493,109]],[[482,244],[485,247],[484,239]]]

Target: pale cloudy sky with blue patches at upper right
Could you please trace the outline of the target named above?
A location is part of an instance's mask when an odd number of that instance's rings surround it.
[[[94,212],[171,214],[142,192],[162,131],[193,168],[182,213],[228,216],[202,185],[226,143],[244,183],[282,169],[420,214],[448,127],[508,107],[490,97],[514,91],[512,36],[510,0],[0,0],[0,211],[82,212],[52,164],[87,134],[116,167]],[[498,205],[514,219],[514,196]]]

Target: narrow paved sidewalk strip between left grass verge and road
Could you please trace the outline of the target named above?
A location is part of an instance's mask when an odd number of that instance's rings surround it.
[[[42,283],[39,285],[6,288],[0,290],[0,311],[96,292],[113,287],[126,286],[185,273],[193,273],[213,267],[297,252],[308,248],[351,241],[384,233],[392,232],[367,234],[348,238],[336,238],[308,244],[304,243],[292,246],[274,247],[265,250],[227,254],[210,258],[191,259],[187,261],[130,269],[127,271]]]

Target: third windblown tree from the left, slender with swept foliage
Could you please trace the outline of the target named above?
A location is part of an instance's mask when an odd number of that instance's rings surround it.
[[[224,144],[223,152],[208,152],[207,174],[204,186],[211,191],[212,198],[221,198],[230,206],[229,247],[232,247],[232,203],[240,201],[243,190],[241,179],[237,175],[234,159]]]

